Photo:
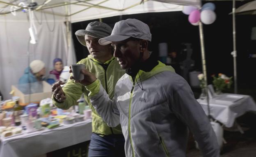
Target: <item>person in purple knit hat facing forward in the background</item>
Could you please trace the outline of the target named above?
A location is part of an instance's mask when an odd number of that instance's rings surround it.
[[[50,71],[49,78],[53,78],[55,81],[59,81],[59,75],[62,73],[63,64],[60,58],[55,58],[53,60],[54,69]]]

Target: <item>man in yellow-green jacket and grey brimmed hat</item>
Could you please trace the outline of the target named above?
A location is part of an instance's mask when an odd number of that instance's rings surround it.
[[[85,68],[96,75],[101,81],[109,97],[114,96],[114,87],[119,78],[125,73],[113,56],[110,44],[102,46],[98,43],[100,38],[109,36],[112,28],[103,22],[91,22],[86,29],[75,32],[78,41],[87,47],[90,55],[77,64],[85,64]],[[88,98],[89,91],[82,84],[68,80],[64,84],[59,81],[53,85],[53,104],[58,108],[68,109],[84,94],[85,100],[92,109],[92,135],[89,145],[89,157],[125,157],[124,138],[120,124],[117,127],[108,127],[96,110],[91,106]]]

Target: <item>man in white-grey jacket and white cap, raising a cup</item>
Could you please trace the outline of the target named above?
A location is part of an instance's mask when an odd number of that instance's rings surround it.
[[[75,82],[90,91],[92,105],[109,126],[121,124],[126,157],[185,157],[188,128],[203,157],[219,157],[213,128],[190,86],[150,55],[150,41],[148,25],[136,19],[117,22],[111,35],[99,40],[112,43],[114,56],[126,69],[113,100],[86,69],[85,79]]]

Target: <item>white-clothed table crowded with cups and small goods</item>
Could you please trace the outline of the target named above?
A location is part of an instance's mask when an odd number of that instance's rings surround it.
[[[89,141],[88,107],[80,112],[73,107],[62,110],[50,98],[26,106],[19,104],[18,97],[1,102],[0,157],[46,157],[46,153]]]

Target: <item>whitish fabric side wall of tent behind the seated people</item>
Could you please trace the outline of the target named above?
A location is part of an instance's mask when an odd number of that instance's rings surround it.
[[[48,24],[53,29],[54,22]],[[68,56],[69,64],[76,62],[72,44],[68,50],[64,22],[55,22],[53,31],[48,29],[46,22],[36,23],[37,44],[29,43],[29,27],[29,22],[0,22],[0,91],[5,100],[11,98],[11,85],[18,84],[32,60],[45,62],[46,75],[53,69],[53,59],[56,57],[62,58],[64,65],[67,64]]]

